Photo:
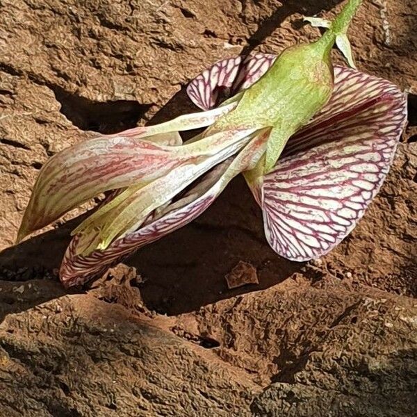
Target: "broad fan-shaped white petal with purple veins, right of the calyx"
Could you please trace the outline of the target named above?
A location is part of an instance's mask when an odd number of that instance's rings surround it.
[[[335,75],[329,104],[252,190],[268,243],[294,261],[326,254],[354,229],[389,172],[407,118],[406,99],[389,81],[341,67]]]

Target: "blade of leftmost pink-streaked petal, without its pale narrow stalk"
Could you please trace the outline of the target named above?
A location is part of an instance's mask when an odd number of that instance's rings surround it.
[[[122,136],[99,136],[64,149],[40,171],[19,240],[102,192],[152,179],[178,163],[167,147]]]

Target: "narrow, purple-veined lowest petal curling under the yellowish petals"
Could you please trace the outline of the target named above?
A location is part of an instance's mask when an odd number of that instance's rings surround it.
[[[228,158],[194,183],[177,201],[161,207],[150,215],[137,230],[115,240],[106,250],[96,250],[89,256],[76,255],[79,235],[74,236],[63,263],[60,279],[66,287],[83,284],[120,262],[135,250],[185,226],[210,206],[229,181],[243,170],[253,167],[265,152],[269,131],[254,135],[238,155]],[[91,236],[94,240],[95,236]]]

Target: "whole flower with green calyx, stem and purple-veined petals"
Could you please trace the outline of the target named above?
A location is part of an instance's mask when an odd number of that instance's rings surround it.
[[[389,81],[332,66],[334,42],[352,62],[345,32],[359,4],[350,0],[332,25],[313,20],[329,27],[315,44],[202,72],[187,91],[203,112],[101,135],[51,158],[19,238],[113,190],[74,230],[60,268],[65,286],[82,284],[191,222],[243,172],[277,254],[306,261],[332,250],[382,185],[407,112]],[[221,91],[231,98],[216,107]],[[179,131],[206,126],[182,143]]]

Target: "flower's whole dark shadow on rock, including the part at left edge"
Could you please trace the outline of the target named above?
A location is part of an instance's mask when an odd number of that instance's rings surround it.
[[[46,276],[58,281],[56,270],[70,242],[70,231],[84,217],[1,252],[2,279],[28,281]],[[254,265],[259,284],[229,290],[225,275],[239,261]],[[241,177],[197,220],[140,248],[126,263],[144,279],[139,288],[147,308],[170,315],[268,288],[304,265],[282,259],[270,249],[261,211]],[[54,297],[46,290],[42,294],[40,302]]]

